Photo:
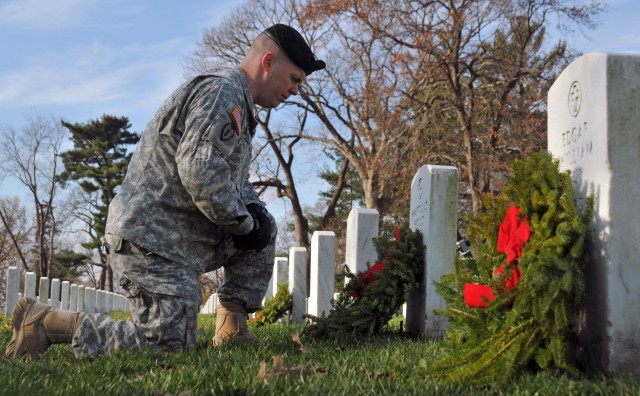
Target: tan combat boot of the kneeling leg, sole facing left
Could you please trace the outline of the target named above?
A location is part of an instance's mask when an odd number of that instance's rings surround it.
[[[31,360],[51,344],[70,343],[84,313],[53,309],[32,298],[21,298],[16,304],[11,322],[13,337],[6,355]]]

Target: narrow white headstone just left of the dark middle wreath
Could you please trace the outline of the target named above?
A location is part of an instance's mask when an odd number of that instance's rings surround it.
[[[309,314],[322,316],[331,311],[335,291],[336,235],[332,231],[316,231],[311,237],[311,273]]]

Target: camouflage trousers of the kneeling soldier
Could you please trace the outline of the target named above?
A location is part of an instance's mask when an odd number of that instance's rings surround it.
[[[224,268],[224,282],[218,288],[220,301],[243,304],[248,312],[260,309],[273,272],[275,225],[273,229],[271,243],[258,253],[235,249],[231,238],[218,246],[205,270]],[[195,347],[200,273],[128,241],[109,248],[109,265],[129,299],[132,320],[85,315],[72,340],[76,356],[93,357],[143,346],[163,350]]]

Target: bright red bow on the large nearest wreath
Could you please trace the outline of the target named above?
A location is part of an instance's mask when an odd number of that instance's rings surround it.
[[[522,256],[524,244],[529,241],[531,229],[525,217],[524,221],[520,221],[518,215],[522,211],[511,205],[507,210],[500,230],[498,231],[499,252],[507,255],[507,267],[511,270],[511,275],[504,282],[507,290],[511,290],[518,285],[518,279],[522,276],[522,272],[516,266],[517,259]],[[496,268],[495,274],[501,274],[505,270],[504,266]],[[493,289],[490,286],[479,285],[477,283],[465,283],[464,285],[464,302],[470,307],[486,307],[487,300],[493,301]]]

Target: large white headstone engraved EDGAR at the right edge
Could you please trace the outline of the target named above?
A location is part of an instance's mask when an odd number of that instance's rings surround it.
[[[571,171],[578,206],[595,197],[578,360],[640,376],[640,56],[581,56],[547,108],[549,151]]]

